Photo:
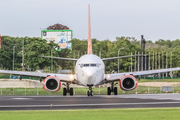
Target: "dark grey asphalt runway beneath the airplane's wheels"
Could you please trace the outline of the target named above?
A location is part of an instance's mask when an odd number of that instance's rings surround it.
[[[0,110],[180,107],[180,94],[0,96]]]

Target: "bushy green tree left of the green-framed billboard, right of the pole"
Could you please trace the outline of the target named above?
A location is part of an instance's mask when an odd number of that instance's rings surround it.
[[[52,50],[53,56],[58,56],[55,50],[58,46],[53,41],[49,44],[41,38],[26,38],[25,41],[27,42],[25,45],[25,63],[33,70],[51,66],[51,59],[42,58],[39,55],[51,56]],[[53,68],[57,68],[57,60],[53,60],[53,66]]]

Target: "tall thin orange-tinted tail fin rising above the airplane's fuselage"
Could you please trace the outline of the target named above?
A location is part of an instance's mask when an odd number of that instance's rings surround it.
[[[87,54],[92,54],[92,42],[91,42],[91,20],[90,20],[90,4],[88,5],[88,50]]]

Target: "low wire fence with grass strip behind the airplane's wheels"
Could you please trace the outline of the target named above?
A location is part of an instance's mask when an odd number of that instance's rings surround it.
[[[88,88],[77,88],[74,89],[75,95],[86,95]],[[99,87],[93,88],[95,95],[106,95],[107,88]],[[168,93],[179,93],[180,87],[173,87],[172,92],[163,92],[162,87],[146,87],[138,86],[132,91],[123,91],[118,88],[118,94],[168,94]],[[58,92],[45,91],[43,88],[0,88],[0,95],[62,95],[63,89],[61,88]],[[113,93],[112,93],[113,94]]]

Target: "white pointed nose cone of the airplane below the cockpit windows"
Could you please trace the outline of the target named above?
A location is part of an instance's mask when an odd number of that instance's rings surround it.
[[[96,82],[96,70],[86,70],[84,73],[86,76],[86,84],[94,85]]]

